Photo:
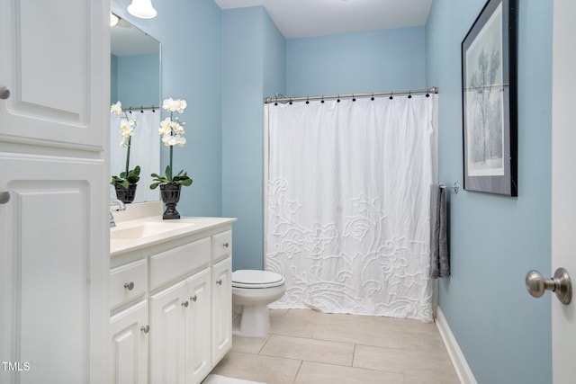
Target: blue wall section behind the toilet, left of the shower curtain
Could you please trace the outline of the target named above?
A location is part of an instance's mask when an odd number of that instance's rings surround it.
[[[263,100],[284,91],[284,37],[261,6],[223,13],[222,213],[234,226],[233,269],[262,269]]]

